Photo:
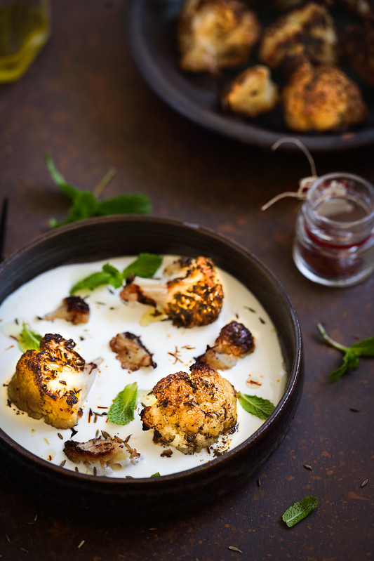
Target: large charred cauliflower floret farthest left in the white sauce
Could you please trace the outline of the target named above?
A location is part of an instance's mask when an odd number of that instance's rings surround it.
[[[39,351],[27,350],[8,385],[11,402],[55,428],[76,425],[97,365],[86,364],[74,347],[72,339],[46,334]]]

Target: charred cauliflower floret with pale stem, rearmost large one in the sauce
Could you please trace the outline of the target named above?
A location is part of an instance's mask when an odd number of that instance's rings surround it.
[[[163,275],[162,281],[128,281],[121,299],[159,306],[178,327],[208,325],[218,318],[223,289],[211,259],[181,258],[166,268]]]

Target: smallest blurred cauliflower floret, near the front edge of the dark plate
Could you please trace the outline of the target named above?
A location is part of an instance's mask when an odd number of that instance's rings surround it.
[[[278,100],[278,86],[272,81],[269,68],[257,65],[244,70],[232,81],[222,96],[222,106],[248,117],[257,117],[272,111]]]

